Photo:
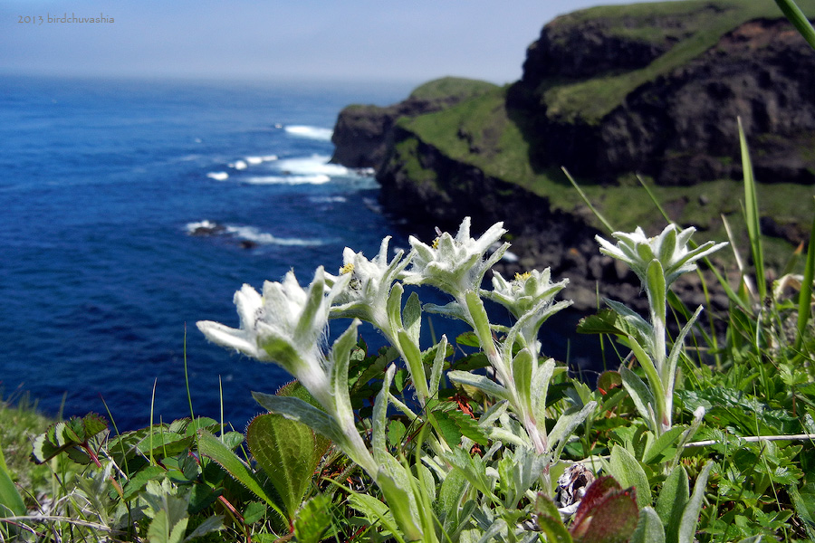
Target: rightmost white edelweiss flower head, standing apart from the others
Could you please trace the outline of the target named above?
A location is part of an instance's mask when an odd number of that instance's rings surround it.
[[[690,227],[680,232],[677,230],[676,224],[668,224],[662,233],[651,238],[640,227],[633,233],[615,232],[612,235],[618,239],[617,245],[612,245],[599,235],[595,239],[600,244],[600,252],[626,262],[644,284],[648,265],[657,260],[665,272],[667,288],[686,271],[694,271],[696,261],[727,244],[707,242],[689,251],[687,243],[696,229]]]

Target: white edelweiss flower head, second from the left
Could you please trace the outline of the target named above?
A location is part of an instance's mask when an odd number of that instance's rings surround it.
[[[390,236],[382,240],[379,253],[368,260],[361,252],[348,247],[342,252],[343,266],[340,276],[326,274],[327,282],[333,284],[343,276],[348,277],[345,288],[339,292],[331,308],[334,317],[358,318],[383,329],[388,323],[387,302],[391,286],[398,279],[412,255],[403,259],[405,252],[398,251],[388,262]]]

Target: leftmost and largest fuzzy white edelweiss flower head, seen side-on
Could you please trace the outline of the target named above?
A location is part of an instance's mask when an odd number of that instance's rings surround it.
[[[199,321],[197,326],[206,338],[222,347],[279,364],[321,399],[330,395],[321,343],[331,300],[348,279],[335,281],[327,294],[322,268],[314,273],[308,291],[300,286],[293,271],[286,273],[283,282],[265,281],[263,296],[244,285],[235,292],[240,329],[209,320]]]

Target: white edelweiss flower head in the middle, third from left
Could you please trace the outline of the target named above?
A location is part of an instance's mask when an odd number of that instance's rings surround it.
[[[404,274],[404,281],[433,285],[456,299],[463,297],[466,291],[477,292],[484,273],[501,259],[509,247],[509,243],[503,243],[484,260],[484,254],[505,232],[503,223],[496,223],[476,240],[470,237],[470,217],[465,217],[455,238],[449,233],[442,233],[436,242],[427,245],[410,236],[409,242],[416,256]]]

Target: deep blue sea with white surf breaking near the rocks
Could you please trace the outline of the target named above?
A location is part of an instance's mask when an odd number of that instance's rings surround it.
[[[281,369],[208,344],[233,294],[403,232],[365,172],[328,163],[350,103],[407,84],[0,76],[0,386],[120,430],[196,414],[242,428]],[[217,224],[214,235],[192,235]],[[392,245],[407,246],[405,233]],[[341,331],[341,330],[339,330]],[[375,341],[374,341],[375,343]],[[556,354],[556,353],[552,353]],[[563,356],[562,353],[556,356]]]

